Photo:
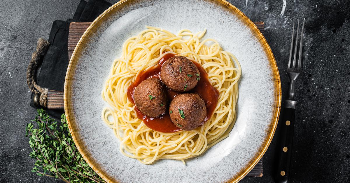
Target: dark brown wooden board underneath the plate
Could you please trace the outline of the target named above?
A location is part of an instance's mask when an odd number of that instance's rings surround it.
[[[72,56],[75,46],[78,44],[80,37],[82,37],[85,30],[89,27],[91,22],[72,22],[69,26],[68,35],[68,57]],[[264,22],[254,22],[262,34],[264,34]],[[52,91],[48,92],[47,107],[49,109],[63,109],[63,92]],[[261,177],[262,176],[262,158],[255,165],[255,167],[247,174],[247,176]]]

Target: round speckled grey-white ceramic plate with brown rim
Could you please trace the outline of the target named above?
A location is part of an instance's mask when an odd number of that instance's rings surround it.
[[[237,121],[230,136],[203,155],[143,165],[119,151],[119,140],[101,119],[101,91],[124,41],[145,26],[173,33],[207,29],[236,55],[242,67]],[[257,27],[223,0],[124,0],[86,30],[71,57],[64,108],[74,142],[84,159],[108,182],[237,182],[261,159],[273,137],[281,103],[278,69]]]

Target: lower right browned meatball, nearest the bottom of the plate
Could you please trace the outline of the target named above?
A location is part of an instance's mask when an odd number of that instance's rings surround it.
[[[170,102],[169,115],[177,127],[190,131],[197,128],[205,119],[207,108],[198,94],[184,93],[177,95]]]

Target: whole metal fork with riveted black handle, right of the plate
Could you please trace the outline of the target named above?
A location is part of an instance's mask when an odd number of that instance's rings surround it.
[[[296,100],[294,99],[295,95],[295,79],[300,75],[302,71],[302,44],[303,44],[303,32],[304,32],[304,23],[301,28],[301,38],[299,46],[299,55],[297,58],[297,46],[298,46],[298,34],[299,34],[299,17],[298,17],[298,26],[296,29],[296,38],[295,38],[295,48],[293,56],[293,41],[294,41],[294,29],[295,29],[295,18],[293,18],[293,33],[292,33],[292,43],[290,45],[289,61],[287,74],[289,76],[289,89],[288,97],[285,100],[284,112],[282,115],[282,120],[280,122],[280,136],[278,139],[278,144],[276,146],[276,159],[275,159],[275,171],[274,171],[274,180],[276,183],[287,183],[290,177],[290,161],[292,156],[292,145],[293,145],[293,133],[294,133],[294,121],[295,121],[295,105]],[[293,62],[292,62],[293,56]]]

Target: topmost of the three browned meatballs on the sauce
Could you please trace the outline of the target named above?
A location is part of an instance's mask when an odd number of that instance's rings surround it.
[[[197,74],[199,70],[192,61],[184,56],[173,56],[163,64],[160,79],[170,89],[186,92],[196,86]]]

